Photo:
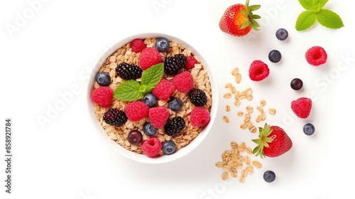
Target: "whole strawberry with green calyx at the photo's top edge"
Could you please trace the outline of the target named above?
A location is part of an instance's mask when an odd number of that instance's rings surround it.
[[[246,0],[245,6],[243,4],[234,4],[229,6],[219,21],[219,28],[225,33],[232,36],[246,36],[251,28],[258,31],[260,25],[255,19],[261,18],[252,11],[260,9],[260,5],[249,6],[249,0]]]

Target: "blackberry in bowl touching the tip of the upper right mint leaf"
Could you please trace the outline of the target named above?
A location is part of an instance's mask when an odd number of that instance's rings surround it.
[[[164,72],[166,75],[177,75],[181,68],[186,65],[185,55],[178,54],[165,59]]]

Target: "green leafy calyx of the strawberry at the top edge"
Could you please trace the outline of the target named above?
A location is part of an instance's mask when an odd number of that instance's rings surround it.
[[[249,0],[246,0],[246,11],[244,11],[244,9],[241,7],[241,14],[243,14],[243,16],[246,19],[246,21],[244,21],[243,24],[241,24],[241,28],[240,29],[244,29],[246,27],[248,27],[249,25],[251,26],[251,28],[253,28],[253,30],[255,31],[260,31],[260,25],[258,22],[256,22],[256,19],[261,18],[261,16],[258,16],[256,14],[253,14],[253,11],[257,11],[258,9],[260,9],[260,5],[252,5],[249,6]]]

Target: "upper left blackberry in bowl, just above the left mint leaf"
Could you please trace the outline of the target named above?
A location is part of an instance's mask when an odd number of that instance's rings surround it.
[[[121,63],[116,67],[117,76],[124,80],[136,80],[142,77],[143,70],[134,64]]]

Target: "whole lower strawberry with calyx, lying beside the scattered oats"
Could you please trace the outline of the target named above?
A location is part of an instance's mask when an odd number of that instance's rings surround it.
[[[261,158],[281,156],[292,148],[288,134],[280,127],[270,127],[268,124],[265,124],[264,128],[259,128],[259,139],[253,139],[253,142],[258,144],[253,154]]]

